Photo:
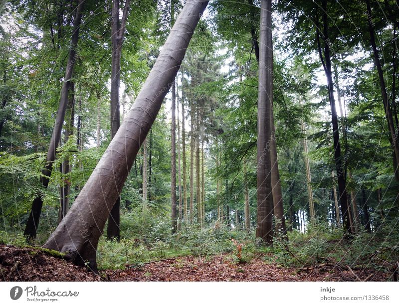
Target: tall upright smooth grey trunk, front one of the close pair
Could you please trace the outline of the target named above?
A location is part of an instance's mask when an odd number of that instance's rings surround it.
[[[273,80],[273,52],[271,50],[271,0],[260,4],[259,82],[258,82],[258,143],[257,143],[257,228],[256,238],[273,244],[273,195],[270,175],[271,138],[270,110]]]

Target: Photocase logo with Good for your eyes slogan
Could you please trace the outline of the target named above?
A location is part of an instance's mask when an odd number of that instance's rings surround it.
[[[79,295],[78,291],[52,291],[48,287],[44,291],[38,291],[36,286],[28,286],[22,290],[21,287],[12,287],[9,291],[9,297],[11,300],[18,300],[21,298],[23,292],[26,294],[26,301],[35,302],[55,302],[58,298],[71,298]]]

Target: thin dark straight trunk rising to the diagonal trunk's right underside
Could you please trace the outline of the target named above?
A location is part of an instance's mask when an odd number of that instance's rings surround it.
[[[171,148],[172,148],[172,171],[171,171],[171,201],[172,201],[172,233],[176,233],[178,220],[176,210],[176,83],[172,83],[172,127],[171,127]]]

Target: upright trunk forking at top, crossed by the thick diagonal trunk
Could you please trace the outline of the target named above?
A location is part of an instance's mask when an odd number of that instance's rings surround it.
[[[122,21],[119,22],[119,0],[112,0],[112,24],[111,24],[111,45],[112,45],[112,70],[111,70],[111,140],[115,137],[120,127],[119,112],[119,84],[121,72],[122,43],[125,36],[126,20],[130,9],[130,0],[126,0],[123,8]],[[120,240],[119,229],[120,219],[120,197],[115,201],[109,217],[107,227],[108,239]]]

